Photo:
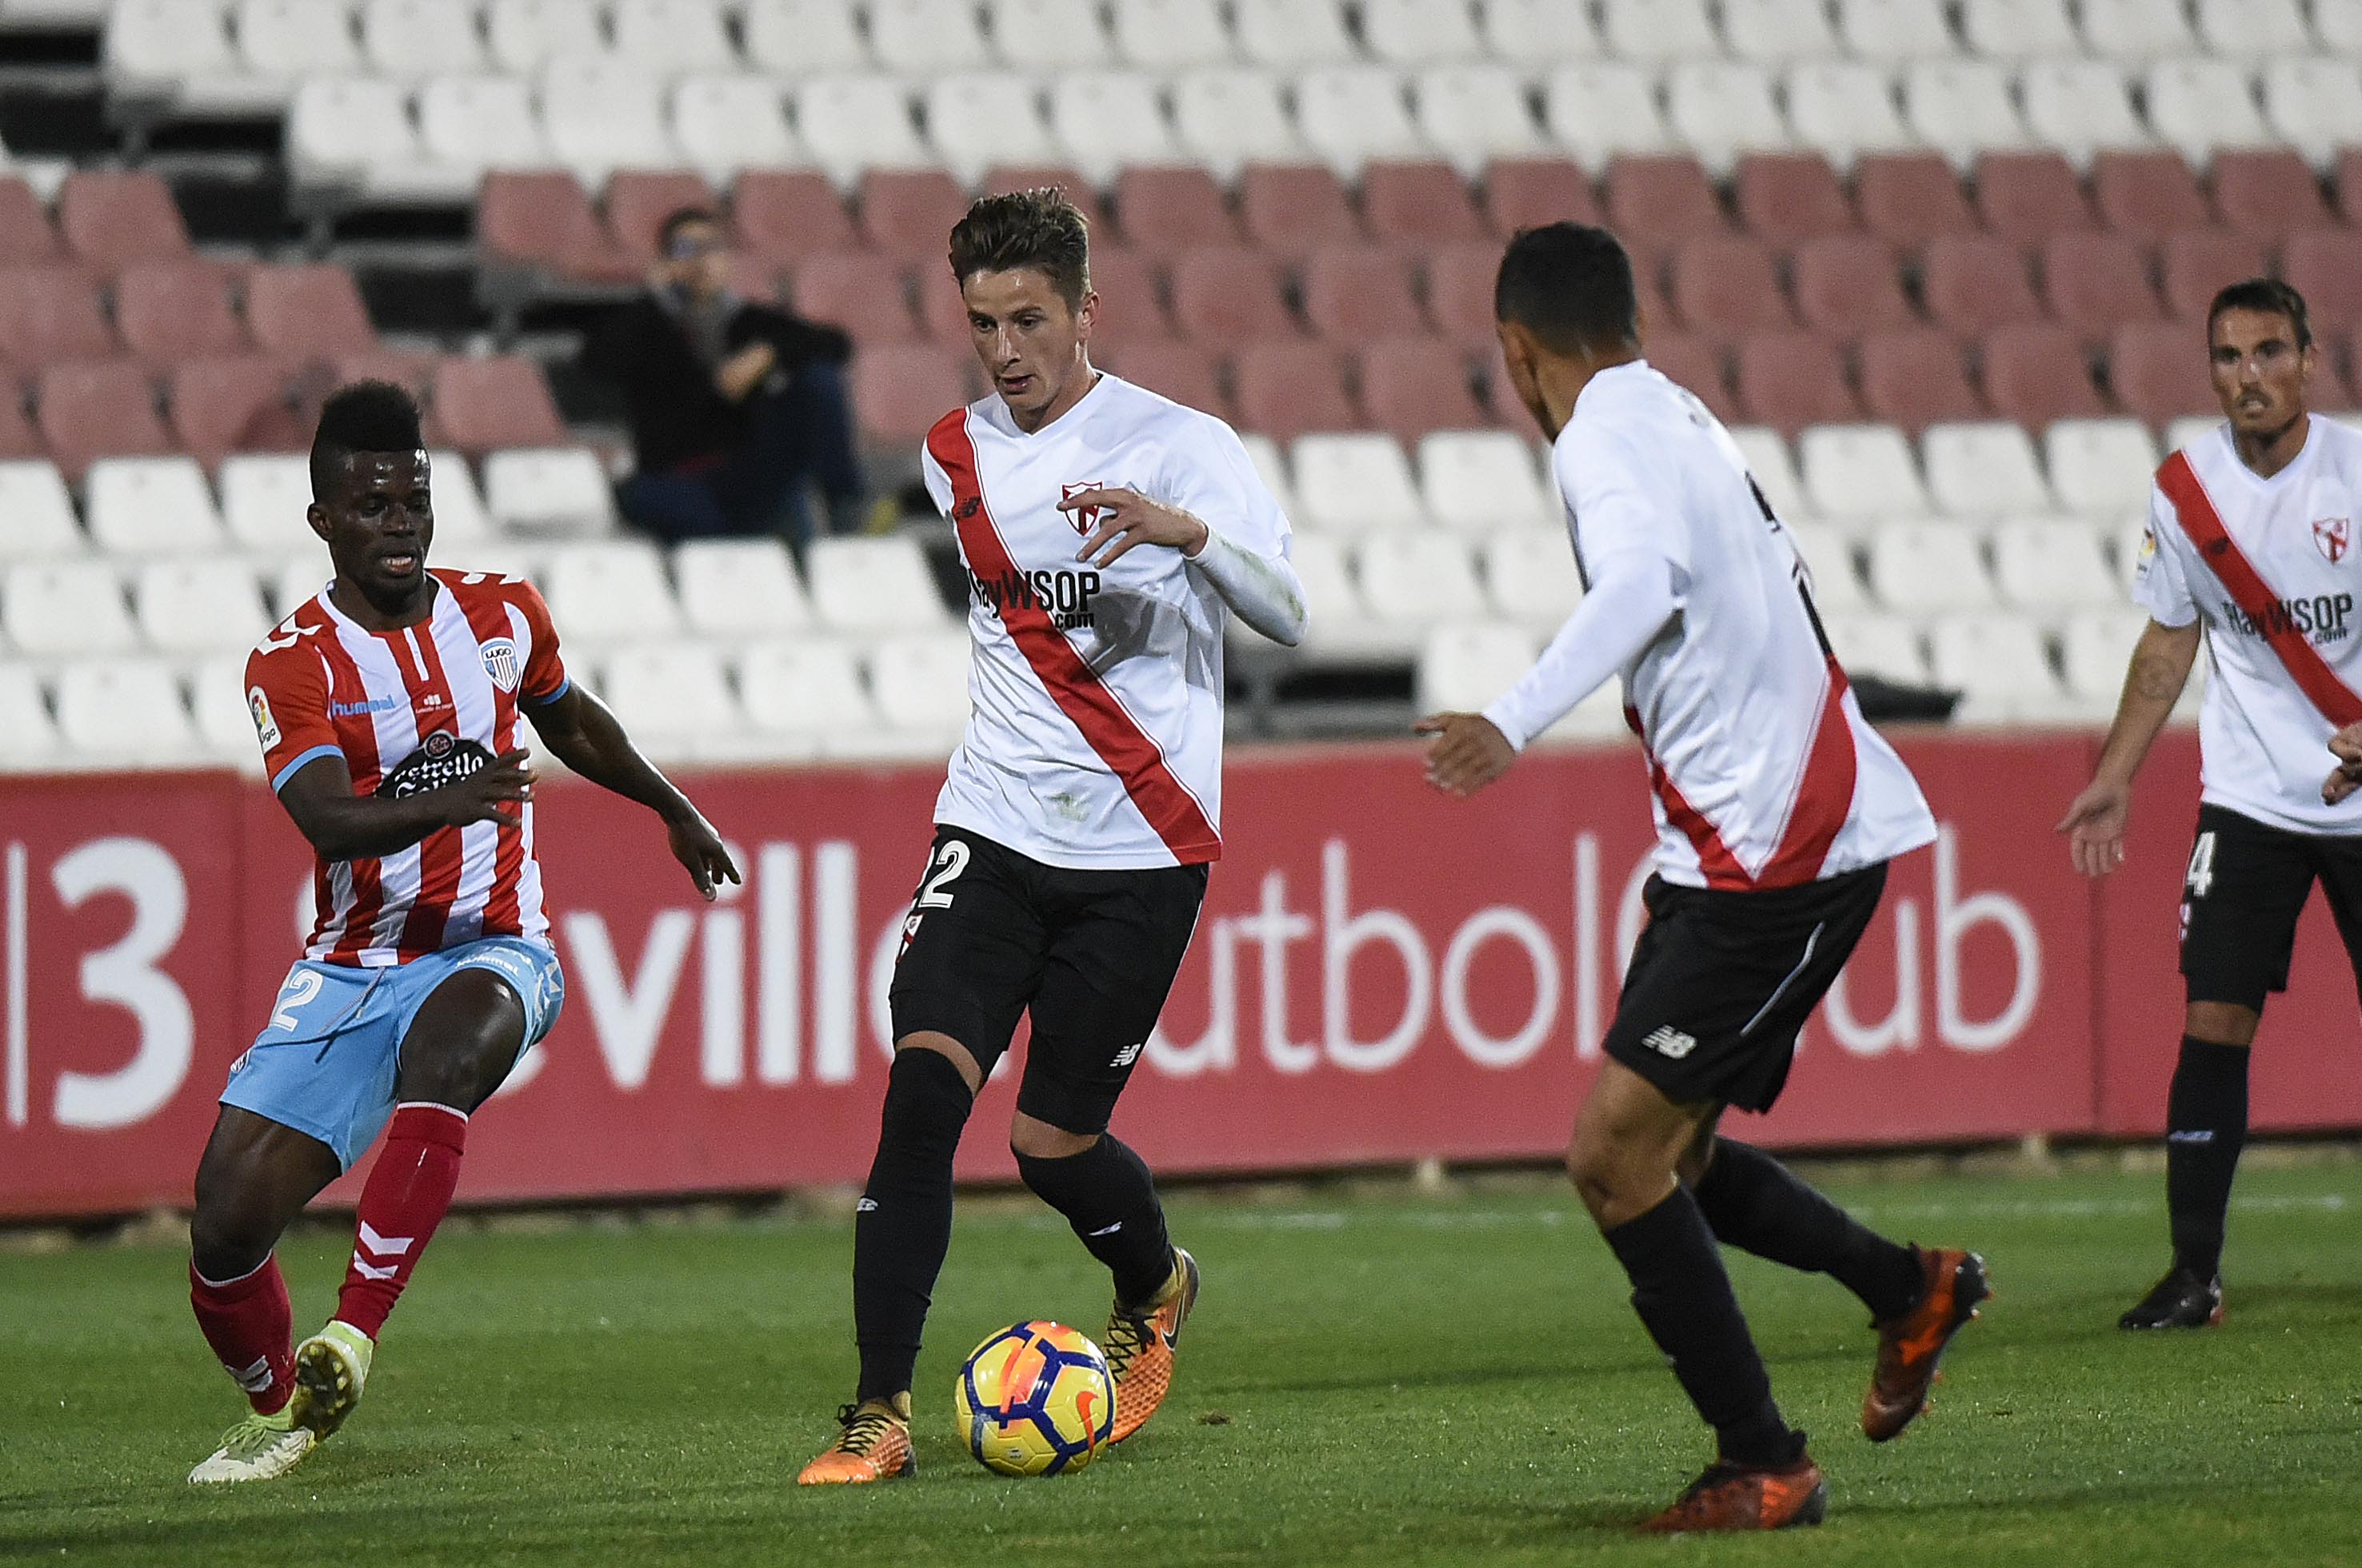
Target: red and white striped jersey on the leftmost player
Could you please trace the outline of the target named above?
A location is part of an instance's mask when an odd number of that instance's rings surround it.
[[[418,626],[366,631],[321,590],[246,656],[246,706],[272,789],[335,756],[361,796],[465,779],[517,744],[520,704],[567,690],[550,609],[531,583],[435,571]],[[479,937],[548,940],[534,808],[520,827],[437,829],[378,860],[321,860],[305,956],[383,966]]]

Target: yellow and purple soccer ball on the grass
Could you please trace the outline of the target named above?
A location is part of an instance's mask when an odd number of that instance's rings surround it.
[[[985,1469],[1063,1476],[1115,1436],[1108,1358],[1063,1322],[1013,1322],[959,1367],[959,1436]]]

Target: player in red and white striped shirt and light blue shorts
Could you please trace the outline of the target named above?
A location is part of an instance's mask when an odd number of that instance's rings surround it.
[[[451,1207],[468,1115],[557,1020],[520,720],[654,810],[704,897],[737,881],[713,827],[567,680],[531,583],[428,571],[428,453],[406,392],[328,399],[312,496],[335,579],[255,647],[246,701],[272,789],[319,852],[319,914],[196,1169],[189,1299],[253,1403],[189,1474],[201,1483],[286,1474],[352,1412]],[[272,1249],[380,1129],[335,1318],[291,1346]]]

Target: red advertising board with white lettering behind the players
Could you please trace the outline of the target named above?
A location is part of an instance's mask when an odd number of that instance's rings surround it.
[[[1786,1098],[1743,1136],[2154,1131],[2180,1034],[2194,746],[2159,749],[2128,867],[2102,888],[2050,834],[2088,737],[1927,734],[1904,753],[1942,841],[1894,867]],[[860,1181],[938,782],[690,779],[746,869],[718,904],[640,808],[548,784],[567,1008],[482,1112],[463,1197]],[[1554,1152],[1639,923],[1637,756],[1538,751],[1457,803],[1420,782],[1410,746],[1240,751],[1226,793],[1228,848],[1117,1129],[1174,1174]],[[187,1202],[307,886],[295,829],[243,779],[0,784],[0,1216]],[[2308,921],[2296,989],[2265,1025],[2258,1126],[2362,1126],[2353,989],[2324,926]],[[966,1176],[1013,1169],[1011,1077],[985,1093]]]

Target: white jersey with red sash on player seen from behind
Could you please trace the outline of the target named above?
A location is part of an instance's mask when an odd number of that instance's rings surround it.
[[[1672,567],[1675,616],[1623,673],[1665,881],[1788,888],[1934,838],[1821,638],[1795,541],[1705,404],[1646,361],[1599,371],[1552,468],[1578,562],[1653,550]]]

